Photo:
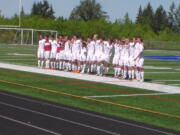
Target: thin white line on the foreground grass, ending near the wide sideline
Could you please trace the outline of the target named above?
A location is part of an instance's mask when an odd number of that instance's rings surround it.
[[[157,96],[157,95],[174,95],[178,93],[148,93],[148,94],[125,94],[125,95],[103,95],[103,96],[85,96],[89,98],[106,98],[106,97],[138,97],[138,96]]]

